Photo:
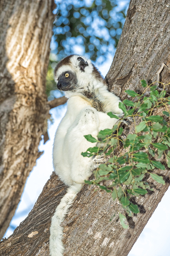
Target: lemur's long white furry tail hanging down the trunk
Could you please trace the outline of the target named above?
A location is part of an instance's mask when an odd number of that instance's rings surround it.
[[[69,187],[66,195],[61,199],[60,204],[57,206],[55,214],[51,218],[49,239],[50,256],[63,256],[63,228],[60,226],[60,224],[64,220],[65,215],[68,213],[69,207],[72,205],[74,198],[81,188],[82,184],[75,184]]]

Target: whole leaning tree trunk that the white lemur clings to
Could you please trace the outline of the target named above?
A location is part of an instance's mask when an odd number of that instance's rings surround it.
[[[162,62],[169,66],[168,8],[167,1],[130,2],[122,36],[106,76],[110,90],[122,99],[127,98],[125,89],[141,89],[140,79],[157,80],[157,71]],[[160,73],[160,80],[170,80],[165,69]],[[161,109],[157,111],[155,114],[160,114]],[[133,124],[124,129],[126,136],[130,130],[132,132]],[[105,191],[95,191],[95,186],[84,185],[61,224],[64,227],[63,243],[66,248],[64,256],[126,256],[169,186],[169,168],[165,171],[155,169],[154,172],[161,174],[167,182],[162,185],[146,177],[154,192],[132,198],[140,213],[127,217],[129,228],[126,230],[118,220],[119,211],[124,213],[120,204],[113,201]],[[50,218],[64,193],[66,186],[53,174],[29,216],[16,228],[14,234],[1,243],[0,252],[4,256],[49,255]],[[38,233],[28,238],[32,231]]]

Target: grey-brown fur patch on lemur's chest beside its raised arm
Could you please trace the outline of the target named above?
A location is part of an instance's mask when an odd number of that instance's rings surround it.
[[[97,111],[104,112],[104,104],[100,101],[100,99],[94,94],[88,91],[83,93],[84,99],[90,103],[90,105],[95,108]]]

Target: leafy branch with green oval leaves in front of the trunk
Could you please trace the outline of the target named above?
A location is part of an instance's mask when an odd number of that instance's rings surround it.
[[[155,161],[155,152],[157,159],[162,156],[166,160],[167,166],[170,167],[170,122],[166,121],[170,116],[169,105],[170,97],[165,97],[167,89],[165,84],[162,88],[157,85],[147,85],[145,80],[141,80],[144,92],[140,95],[132,90],[125,92],[131,97],[135,97],[134,101],[124,100],[119,103],[119,108],[123,110],[124,117],[119,118],[109,112],[110,118],[116,118],[120,121],[131,117],[134,120],[134,134],[129,134],[126,138],[121,137],[123,127],[121,122],[117,122],[113,129],[105,129],[98,134],[98,140],[90,134],[85,138],[90,142],[96,142],[93,148],[88,148],[83,152],[84,157],[105,154],[108,160],[105,164],[100,164],[94,171],[95,180],[86,180],[85,183],[95,184],[100,189],[111,193],[112,199],[119,200],[128,216],[139,213],[136,204],[130,201],[131,196],[145,195],[148,190],[153,188],[144,180],[145,174],[149,174],[156,182],[165,184],[162,176],[153,173],[155,168],[165,170],[164,164]],[[126,106],[130,107],[126,110]],[[162,111],[162,115],[152,115],[153,111],[163,106],[166,111]],[[142,120],[136,125],[137,120]],[[124,150],[120,151],[120,145]],[[119,155],[115,155],[116,150]],[[109,186],[100,185],[103,180],[110,181]],[[124,228],[128,228],[126,217],[119,213],[120,222]]]

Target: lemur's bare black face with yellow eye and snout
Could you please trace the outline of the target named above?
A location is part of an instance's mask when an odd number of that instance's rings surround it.
[[[65,71],[58,77],[57,88],[60,91],[72,91],[76,88],[76,74],[71,71]]]

